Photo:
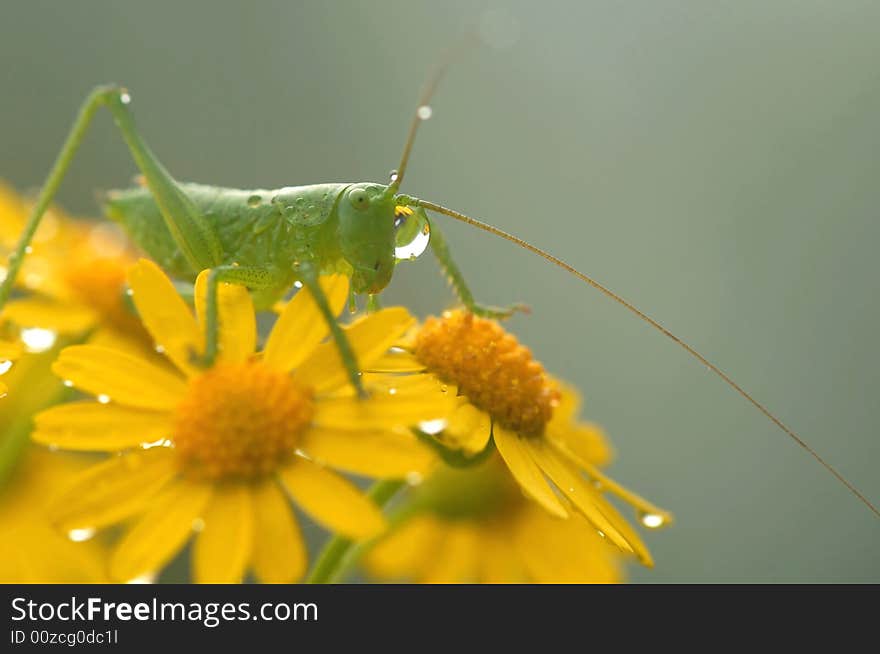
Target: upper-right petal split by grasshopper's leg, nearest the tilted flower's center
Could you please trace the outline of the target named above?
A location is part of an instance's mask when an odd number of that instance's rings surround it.
[[[345,328],[345,335],[361,369],[368,369],[414,323],[415,318],[406,309],[391,307],[361,318]],[[298,381],[318,392],[342,386],[348,380],[339,349],[332,340],[315,348],[294,374]]]

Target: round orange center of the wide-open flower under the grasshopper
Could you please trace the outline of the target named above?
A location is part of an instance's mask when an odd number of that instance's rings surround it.
[[[174,449],[199,479],[255,478],[293,455],[314,413],[312,392],[259,362],[218,364],[189,382]]]

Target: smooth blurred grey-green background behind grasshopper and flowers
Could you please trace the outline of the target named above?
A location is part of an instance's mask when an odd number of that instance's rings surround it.
[[[404,190],[607,283],[880,501],[875,2],[6,0],[0,177],[38,186],[114,81],[178,179],[385,181],[427,71],[485,11],[507,47],[450,72]],[[94,214],[134,172],[102,115],[61,203]],[[583,390],[612,474],[675,512],[635,581],[880,581],[880,521],[733,391],[533,255],[446,231],[480,299],[532,306],[511,328]],[[451,302],[427,253],[388,296]]]

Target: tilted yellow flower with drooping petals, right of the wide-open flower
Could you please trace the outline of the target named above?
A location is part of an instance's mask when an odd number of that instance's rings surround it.
[[[577,421],[577,394],[551,379],[512,334],[495,321],[449,311],[429,318],[409,349],[458,396],[458,408],[441,426],[442,442],[474,453],[494,436],[513,477],[548,513],[566,518],[576,511],[621,550],[653,565],[604,492],[631,504],[646,527],[668,524],[672,516],[599,470],[610,453],[597,427]],[[406,355],[399,360],[406,367]]]

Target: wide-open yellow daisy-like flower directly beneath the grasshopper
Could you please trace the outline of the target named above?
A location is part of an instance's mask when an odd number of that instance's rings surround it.
[[[347,280],[322,284],[341,310]],[[109,348],[66,348],[53,370],[97,402],[49,409],[34,432],[40,443],[121,453],[87,471],[52,507],[65,530],[139,514],[111,557],[114,579],[158,570],[196,530],[197,581],[235,582],[248,570],[263,582],[296,581],[306,550],[287,494],[328,529],[362,539],[385,527],[381,512],[325,466],[402,478],[433,465],[433,453],[404,427],[447,411],[436,381],[364,375],[371,397],[358,399],[335,344],[322,342],[328,329],[310,294],[294,297],[255,355],[250,295],[222,285],[220,353],[202,369],[195,355],[203,350],[206,273],[196,282],[197,317],[155,264],[134,266],[129,285],[176,370]],[[412,323],[404,309],[389,308],[346,331],[369,365]]]

